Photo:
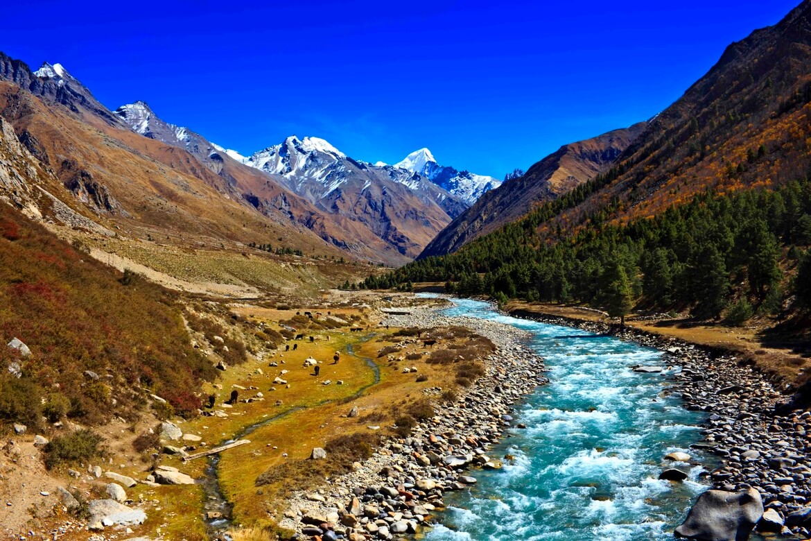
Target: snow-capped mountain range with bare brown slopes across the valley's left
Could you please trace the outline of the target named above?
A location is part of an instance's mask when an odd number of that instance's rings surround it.
[[[165,122],[144,101],[109,111],[60,64],[32,71],[0,54],[0,84],[2,116],[49,167],[50,176],[33,182],[108,230],[281,238],[324,255],[401,264],[498,185],[431,157],[434,182],[425,172],[356,161],[316,137],[290,136],[242,157]]]

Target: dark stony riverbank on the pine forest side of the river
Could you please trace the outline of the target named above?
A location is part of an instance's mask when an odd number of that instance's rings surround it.
[[[664,362],[681,368],[667,376],[667,393],[680,396],[689,410],[704,411],[704,440],[693,448],[720,459],[708,472],[713,487],[724,491],[757,490],[766,508],[757,529],[795,535],[811,534],[811,412],[785,414],[777,406],[790,397],[775,389],[769,378],[735,354],[709,350],[616,325],[515,311],[549,324],[608,333],[667,352]],[[666,368],[665,366],[661,368]],[[652,367],[641,367],[654,371]],[[667,371],[663,371],[663,374]]]

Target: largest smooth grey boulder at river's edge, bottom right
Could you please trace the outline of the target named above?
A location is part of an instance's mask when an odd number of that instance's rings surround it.
[[[698,496],[676,537],[701,541],[745,541],[763,516],[763,501],[753,488],[743,492],[708,490]]]

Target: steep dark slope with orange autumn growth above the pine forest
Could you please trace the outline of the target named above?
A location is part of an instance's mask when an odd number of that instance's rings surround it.
[[[811,167],[811,2],[729,45],[653,118],[605,186],[540,230],[651,217],[713,189],[775,187]]]

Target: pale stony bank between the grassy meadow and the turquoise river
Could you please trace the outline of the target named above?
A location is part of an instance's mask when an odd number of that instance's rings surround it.
[[[483,359],[487,374],[460,393],[456,403],[437,406],[435,417],[414,427],[410,437],[388,440],[350,474],[292,498],[280,526],[325,541],[338,535],[359,541],[416,532],[444,507],[445,492],[476,483],[469,470],[501,467],[500,458],[488,456],[487,449],[514,427],[513,404],[547,383],[543,360],[524,346],[526,333],[508,325],[448,318],[426,308],[388,316],[384,324],[462,325],[489,338],[497,350]]]

